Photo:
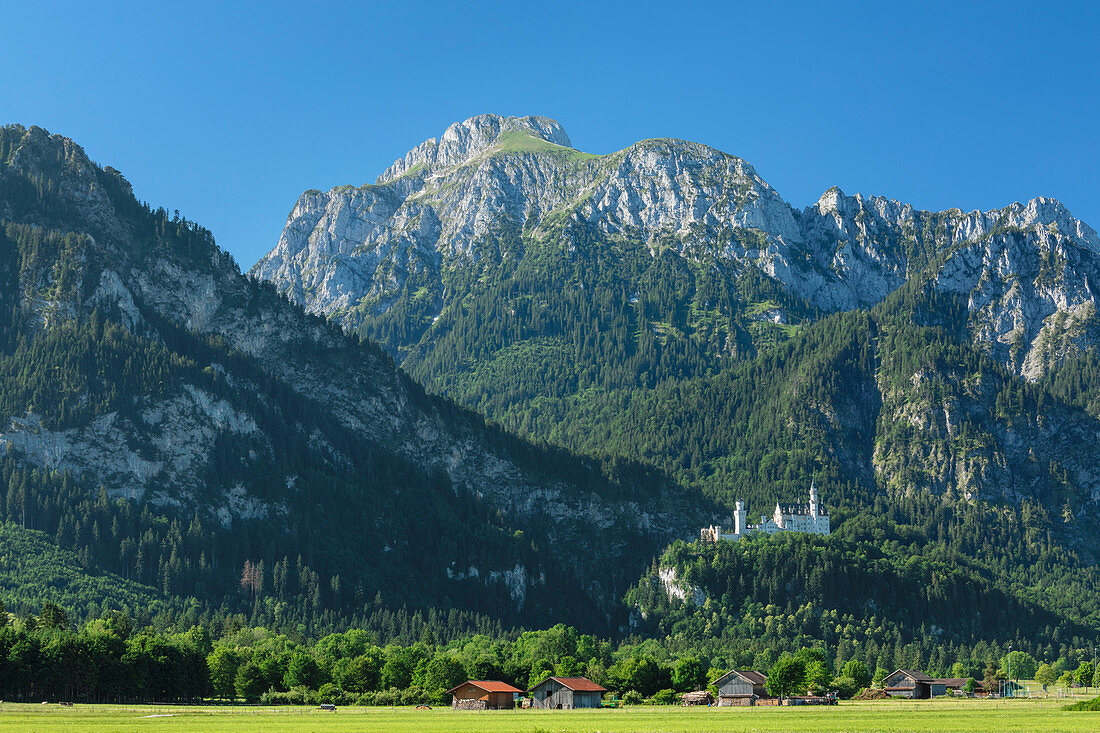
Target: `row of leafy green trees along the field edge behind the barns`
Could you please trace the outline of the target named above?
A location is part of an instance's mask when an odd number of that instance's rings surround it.
[[[769,622],[770,623],[770,622]],[[1036,659],[999,645],[948,647],[936,660],[911,664],[902,648],[865,655],[843,645],[685,647],[672,639],[606,639],[557,625],[503,636],[464,635],[383,642],[364,630],[316,641],[255,626],[140,627],[119,613],[74,626],[47,603],[16,617],[0,610],[0,696],[6,700],[196,701],[266,703],[446,703],[446,690],[466,679],[501,679],[526,689],[550,675],[584,675],[624,700],[674,702],[706,689],[730,668],[769,676],[769,692],[837,690],[848,696],[899,666],[935,676],[1035,678],[1044,683],[1100,683],[1087,655],[1063,648]],[[872,671],[873,670],[873,671]]]

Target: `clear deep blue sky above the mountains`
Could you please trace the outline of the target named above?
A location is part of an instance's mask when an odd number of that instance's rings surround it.
[[[307,188],[482,112],[675,136],[794,206],[1054,196],[1100,228],[1093,3],[6,3],[0,122],[85,146],[251,266]]]

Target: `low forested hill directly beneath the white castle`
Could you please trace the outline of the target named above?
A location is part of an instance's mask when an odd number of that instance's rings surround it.
[[[685,600],[670,594],[659,568],[674,571]],[[1016,595],[990,575],[938,546],[792,533],[676,543],[627,600],[646,617],[639,634],[680,648],[737,646],[740,663],[758,667],[777,650],[814,645],[829,649],[837,664],[860,658],[872,669],[944,669],[999,658],[1010,644],[1053,659],[1098,641],[1086,623],[1091,617],[1052,611],[1043,604],[1048,598]],[[694,589],[705,600],[693,600]],[[1059,591],[1085,610],[1094,605],[1082,588],[1067,584],[1050,598]]]

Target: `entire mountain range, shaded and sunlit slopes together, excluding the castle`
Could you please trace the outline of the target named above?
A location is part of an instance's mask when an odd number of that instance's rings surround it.
[[[0,254],[0,539],[129,589],[86,612],[694,639],[767,616],[875,648],[1100,628],[1100,240],[1054,199],[799,210],[706,145],[592,155],[490,114],[305,192],[242,274],[9,125]],[[811,481],[828,539],[681,541]]]

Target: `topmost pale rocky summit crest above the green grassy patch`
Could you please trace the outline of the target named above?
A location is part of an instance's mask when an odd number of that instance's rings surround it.
[[[561,123],[548,117],[477,114],[455,122],[447,128],[442,136],[429,138],[406,153],[405,157],[394,161],[376,183],[388,183],[410,173],[461,165],[492,147],[509,132],[519,132],[562,147],[573,146]]]

